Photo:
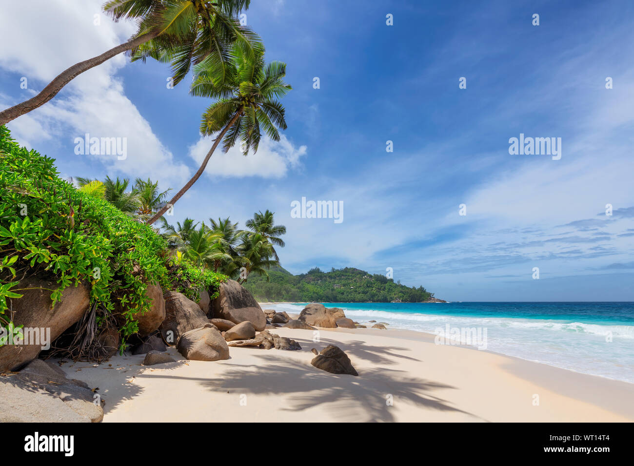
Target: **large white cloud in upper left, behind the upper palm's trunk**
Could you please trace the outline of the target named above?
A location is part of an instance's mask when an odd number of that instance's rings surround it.
[[[0,15],[0,67],[27,77],[29,91],[41,90],[65,68],[100,55],[127,41],[134,32],[130,22],[114,23],[100,13],[102,0],[35,0],[28,10],[20,3],[6,3]],[[99,25],[94,15],[99,14]],[[55,18],[55,20],[51,20]],[[190,169],[174,160],[148,121],[126,97],[122,82],[115,77],[126,65],[120,54],[79,75],[60,94],[42,107],[8,124],[22,144],[47,152],[42,141],[56,141],[72,147],[85,133],[98,138],[126,138],[127,159],[117,157],[68,157],[97,159],[112,174],[159,179],[162,184],[181,184]],[[134,66],[142,66],[140,63]],[[4,82],[4,91],[11,92]],[[30,96],[20,94],[15,83],[15,98],[0,100],[0,108],[10,107]]]

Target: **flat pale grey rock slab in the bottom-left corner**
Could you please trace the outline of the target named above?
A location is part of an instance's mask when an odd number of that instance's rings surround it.
[[[35,359],[12,377],[0,377],[0,422],[101,422],[99,396],[68,379],[53,363]]]

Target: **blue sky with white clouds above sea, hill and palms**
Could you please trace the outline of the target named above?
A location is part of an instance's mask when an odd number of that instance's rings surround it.
[[[106,16],[96,25],[100,4],[2,6],[0,107],[133,33]],[[288,130],[247,158],[214,154],[170,221],[243,225],[271,209],[289,271],[391,267],[451,301],[634,300],[630,1],[252,0],[245,13],[267,60],[288,64]],[[65,175],[178,190],[211,145],[198,134],[210,101],[168,77],[118,56],[9,127]],[[127,159],[75,155],[85,133],[127,138]],[[520,133],[561,138],[561,159],[510,155]],[[342,223],[292,218],[302,197],[343,202]]]

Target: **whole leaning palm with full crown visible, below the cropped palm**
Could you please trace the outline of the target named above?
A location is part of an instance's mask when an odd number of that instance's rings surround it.
[[[217,67],[207,61],[195,67],[191,94],[217,99],[202,115],[200,133],[204,136],[218,134],[198,171],[165,207],[147,221],[148,225],[176,204],[200,178],[221,140],[223,150],[227,152],[240,139],[243,155],[247,155],[251,148],[257,152],[261,127],[269,138],[280,140],[277,127],[286,129],[287,125],[285,110],[278,98],[291,89],[283,82],[285,75],[286,64],[281,61],[271,61],[265,67],[262,46],[254,47],[252,55],[247,55],[241,48],[234,48],[233,65],[226,65],[224,74],[219,74]]]

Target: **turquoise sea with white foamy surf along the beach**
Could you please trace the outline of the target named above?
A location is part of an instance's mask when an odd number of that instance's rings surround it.
[[[323,303],[367,323],[441,334],[486,329],[486,349],[634,383],[634,302]],[[271,309],[299,314],[304,303]],[[370,326],[368,326],[370,327]]]

